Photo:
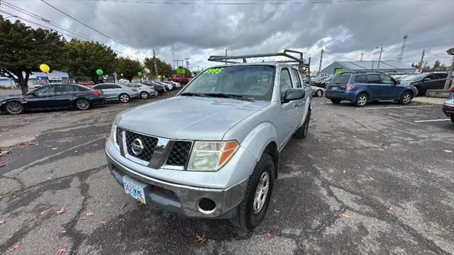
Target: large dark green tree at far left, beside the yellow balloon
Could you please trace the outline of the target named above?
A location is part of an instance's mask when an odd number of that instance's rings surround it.
[[[40,64],[59,69],[65,42],[57,32],[33,29],[20,21],[11,23],[0,16],[0,72],[28,92],[28,78],[40,72]]]

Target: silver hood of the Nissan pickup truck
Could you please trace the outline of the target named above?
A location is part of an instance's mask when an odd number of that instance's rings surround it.
[[[148,135],[181,140],[222,140],[227,130],[268,102],[175,96],[120,113],[116,125]]]

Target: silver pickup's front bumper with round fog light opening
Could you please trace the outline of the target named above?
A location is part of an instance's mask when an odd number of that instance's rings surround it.
[[[123,176],[129,176],[147,184],[145,190],[145,203],[152,203],[158,208],[175,212],[187,217],[204,218],[231,218],[236,215],[236,206],[244,198],[248,179],[230,188],[199,188],[187,186],[168,181],[162,181],[153,177],[141,174],[138,171],[124,166],[116,161],[106,149],[106,157],[112,176],[118,184],[123,186]],[[169,170],[162,170],[169,171]],[[214,201],[214,210],[201,210],[199,203],[202,198],[209,198]]]

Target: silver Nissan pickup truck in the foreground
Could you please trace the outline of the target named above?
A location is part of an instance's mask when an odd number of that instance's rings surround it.
[[[142,203],[252,230],[270,203],[279,152],[307,135],[311,97],[289,64],[206,69],[177,96],[116,116],[111,174]]]

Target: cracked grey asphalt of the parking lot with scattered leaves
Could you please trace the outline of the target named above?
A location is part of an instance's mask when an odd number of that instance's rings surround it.
[[[164,97],[0,115],[0,254],[454,253],[454,124],[441,106],[314,98],[309,136],[283,149],[265,220],[245,234],[140,205],[110,176],[116,113]]]

